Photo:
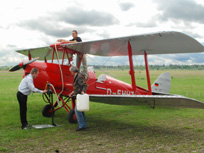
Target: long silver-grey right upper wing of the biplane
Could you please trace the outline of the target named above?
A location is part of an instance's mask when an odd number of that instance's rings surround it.
[[[133,55],[204,52],[197,40],[180,32],[159,32],[121,38],[62,44],[61,46],[87,54],[100,56],[126,56],[130,42]]]

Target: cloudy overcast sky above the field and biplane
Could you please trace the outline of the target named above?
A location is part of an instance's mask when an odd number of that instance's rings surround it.
[[[78,30],[83,41],[160,31],[183,32],[204,44],[203,0],[6,0],[0,5],[0,65],[27,57],[18,49],[48,46],[71,39]],[[110,64],[128,64],[127,57]],[[88,64],[107,58],[88,57]],[[134,57],[144,64],[143,57]],[[149,64],[204,64],[204,54],[154,55]]]

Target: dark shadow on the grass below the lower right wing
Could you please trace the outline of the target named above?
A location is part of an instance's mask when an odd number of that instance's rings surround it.
[[[119,121],[119,120],[104,120],[97,119],[93,116],[88,118],[89,128],[87,134],[94,134],[98,137],[107,135],[110,139],[152,139],[162,143],[174,144],[176,140],[191,142],[192,139],[202,140],[200,132],[194,132],[192,129],[178,128],[174,126],[151,125],[137,121]],[[171,123],[169,123],[171,124]]]

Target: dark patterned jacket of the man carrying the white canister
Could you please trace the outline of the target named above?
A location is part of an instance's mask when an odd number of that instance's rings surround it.
[[[81,94],[82,91],[86,92],[87,87],[86,77],[81,73],[77,73],[73,82],[74,95]]]

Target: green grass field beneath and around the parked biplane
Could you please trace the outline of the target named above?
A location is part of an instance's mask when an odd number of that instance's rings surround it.
[[[127,70],[109,71],[130,83]],[[164,71],[151,71],[153,81]],[[97,72],[99,75],[102,72]],[[204,102],[204,71],[171,70],[170,92]],[[60,127],[21,130],[17,87],[22,71],[0,71],[0,152],[204,152],[204,110],[90,103],[89,128],[76,132],[61,109],[55,114]],[[144,71],[136,72],[137,85],[146,88]],[[50,124],[41,110],[40,94],[28,98],[30,124]]]

